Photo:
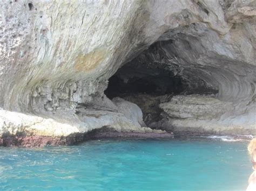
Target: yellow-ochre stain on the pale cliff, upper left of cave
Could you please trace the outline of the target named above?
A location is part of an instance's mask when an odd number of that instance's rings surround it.
[[[105,58],[105,47],[96,48],[87,54],[79,54],[76,58],[76,70],[88,72],[96,68]]]

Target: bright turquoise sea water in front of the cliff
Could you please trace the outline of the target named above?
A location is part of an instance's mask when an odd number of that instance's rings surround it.
[[[246,145],[144,139],[0,147],[0,190],[245,190]]]

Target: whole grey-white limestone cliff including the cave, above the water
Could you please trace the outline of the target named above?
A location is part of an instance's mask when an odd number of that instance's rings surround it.
[[[255,4],[2,1],[0,145],[256,135]]]

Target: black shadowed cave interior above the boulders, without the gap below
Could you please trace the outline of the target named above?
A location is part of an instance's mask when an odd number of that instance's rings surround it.
[[[186,88],[180,76],[159,68],[124,65],[109,79],[107,97],[124,97],[135,94],[160,96],[181,94]]]

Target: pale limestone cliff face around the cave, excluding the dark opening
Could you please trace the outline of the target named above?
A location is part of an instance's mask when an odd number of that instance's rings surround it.
[[[1,134],[151,131],[104,95],[131,60],[182,76],[190,90],[217,89],[230,109],[215,126],[256,134],[255,1],[4,0],[0,10]]]

